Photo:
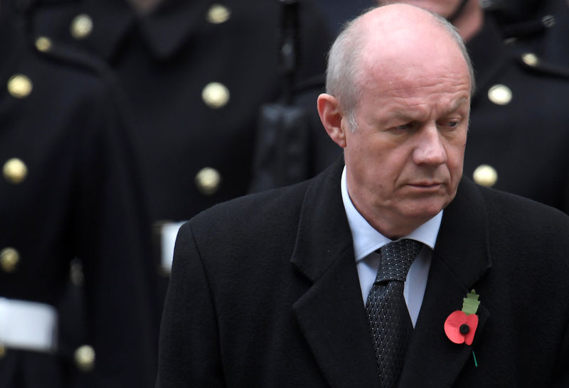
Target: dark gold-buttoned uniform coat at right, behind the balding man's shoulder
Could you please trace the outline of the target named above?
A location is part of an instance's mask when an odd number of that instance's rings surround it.
[[[497,173],[494,188],[569,213],[568,75],[504,45],[490,16],[467,48],[477,91],[464,174],[472,178],[477,167],[489,165]],[[496,87],[510,90],[505,104],[491,99]]]

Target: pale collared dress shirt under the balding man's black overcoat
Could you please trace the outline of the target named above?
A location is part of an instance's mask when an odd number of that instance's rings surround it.
[[[365,306],[368,293],[371,290],[371,286],[373,286],[373,281],[376,280],[381,259],[380,254],[376,253],[376,250],[392,242],[392,240],[373,229],[358,210],[356,210],[353,203],[351,203],[346,185],[346,166],[344,166],[344,172],[342,173],[341,191],[353,238],[353,254],[356,257],[361,295],[363,296],[363,304]],[[410,232],[410,234],[401,237],[401,239],[415,239],[423,243],[418,257],[413,264],[411,264],[403,289],[403,296],[405,297],[405,302],[409,309],[413,327],[415,327],[415,323],[417,323],[422,298],[425,296],[427,277],[429,276],[431,266],[432,249],[435,249],[435,242],[437,241],[441,220],[442,210],[435,215],[435,217],[432,217],[423,225],[413,230],[413,232]]]

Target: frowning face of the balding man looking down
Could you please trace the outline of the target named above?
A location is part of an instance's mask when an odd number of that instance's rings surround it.
[[[361,82],[354,112],[358,126],[345,131],[352,202],[392,238],[454,198],[467,139],[470,82],[464,59],[426,56],[421,62],[420,55],[412,56],[387,65],[368,61],[369,77]]]

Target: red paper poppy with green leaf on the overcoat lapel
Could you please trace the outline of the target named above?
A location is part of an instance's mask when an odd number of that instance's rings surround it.
[[[462,299],[462,310],[453,311],[445,320],[445,333],[453,343],[472,345],[474,333],[478,327],[478,316],[476,315],[480,304],[478,298],[476,291],[470,291],[467,297]],[[478,366],[474,352],[472,356],[474,365]]]

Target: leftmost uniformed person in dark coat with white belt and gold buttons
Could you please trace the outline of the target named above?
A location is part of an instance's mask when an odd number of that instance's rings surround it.
[[[78,368],[81,387],[150,387],[153,281],[117,95],[102,65],[29,35],[4,1],[0,53],[0,387],[71,387]],[[76,350],[61,343],[72,263]]]

